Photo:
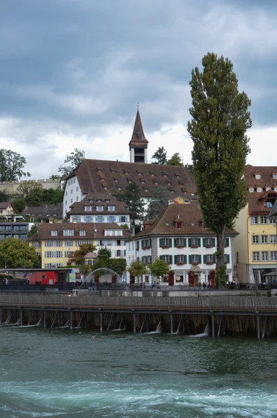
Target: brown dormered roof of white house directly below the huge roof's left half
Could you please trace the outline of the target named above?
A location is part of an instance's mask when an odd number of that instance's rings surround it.
[[[93,203],[89,203],[89,200],[93,200]],[[101,202],[97,202],[98,200],[101,200]],[[106,200],[110,200],[110,202],[106,202]],[[96,206],[103,205],[104,210],[102,212],[96,211]],[[92,206],[92,210],[90,212],[87,212],[87,210],[84,210],[84,206]],[[107,210],[107,206],[115,206],[115,210],[111,212],[110,210]],[[119,202],[117,199],[112,196],[112,194],[107,193],[89,193],[87,196],[82,199],[82,201],[75,202],[70,206],[70,211],[67,212],[67,215],[118,215],[118,214],[124,214],[128,215],[129,210],[128,206],[126,206],[126,203]]]

